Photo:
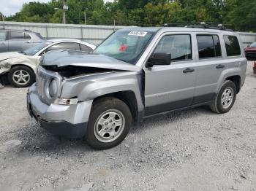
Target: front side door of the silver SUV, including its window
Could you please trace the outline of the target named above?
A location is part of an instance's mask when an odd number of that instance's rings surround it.
[[[191,34],[163,35],[154,52],[171,54],[172,61],[144,69],[146,116],[190,106],[196,79]]]

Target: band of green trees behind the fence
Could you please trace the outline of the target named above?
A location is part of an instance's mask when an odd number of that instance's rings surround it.
[[[162,26],[163,23],[224,23],[238,31],[256,31],[252,0],[66,0],[67,23],[120,26]],[[63,0],[23,4],[6,20],[62,23]],[[55,9],[57,8],[57,9]],[[115,20],[115,21],[114,21]]]

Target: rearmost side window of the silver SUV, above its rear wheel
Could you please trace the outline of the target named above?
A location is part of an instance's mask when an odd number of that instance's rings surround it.
[[[227,56],[241,55],[241,49],[236,36],[223,36],[227,50]]]

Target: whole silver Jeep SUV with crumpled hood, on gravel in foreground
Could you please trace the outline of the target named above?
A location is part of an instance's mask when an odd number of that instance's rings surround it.
[[[246,64],[238,34],[223,28],[121,29],[92,53],[48,52],[28,111],[51,133],[108,149],[154,114],[201,105],[228,112]]]

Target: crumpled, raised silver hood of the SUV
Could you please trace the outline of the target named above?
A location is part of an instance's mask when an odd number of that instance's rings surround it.
[[[41,66],[85,66],[100,69],[116,69],[123,71],[140,71],[138,66],[106,55],[86,54],[75,50],[54,50],[46,53],[40,63]]]

